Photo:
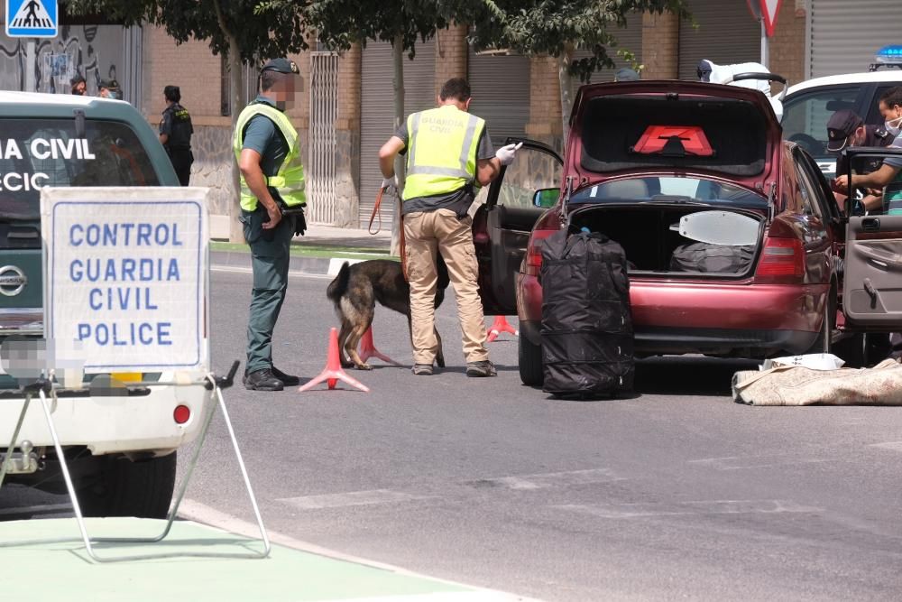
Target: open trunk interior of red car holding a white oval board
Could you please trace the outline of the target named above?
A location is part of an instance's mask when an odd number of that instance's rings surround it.
[[[765,217],[706,205],[605,203],[572,208],[570,223],[620,243],[635,275],[744,278],[754,271]]]

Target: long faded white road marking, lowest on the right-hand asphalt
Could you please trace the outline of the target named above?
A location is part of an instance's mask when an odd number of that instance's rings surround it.
[[[800,505],[786,500],[699,500],[670,505],[658,503],[556,505],[560,510],[592,514],[600,518],[645,518],[653,516],[705,514],[810,514],[824,508]]]

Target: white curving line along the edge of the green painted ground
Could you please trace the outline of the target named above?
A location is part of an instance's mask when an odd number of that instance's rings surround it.
[[[207,524],[212,527],[216,527],[217,529],[222,529],[228,533],[235,533],[236,535],[244,535],[245,537],[260,537],[260,529],[256,525],[256,523],[248,523],[243,519],[238,518],[237,516],[233,516],[232,514],[226,514],[224,512],[220,512],[216,510],[216,508],[212,508],[208,505],[201,504],[199,502],[195,502],[194,500],[182,500],[181,505],[179,506],[179,516],[181,518],[188,519],[189,521],[194,521],[195,523]],[[293,550],[299,551],[307,551],[311,554],[318,554],[319,556],[325,556],[327,558],[332,558],[335,560],[345,560],[346,562],[354,562],[356,564],[363,564],[364,566],[373,567],[374,569],[382,569],[382,570],[391,570],[392,572],[398,573],[400,575],[408,575],[410,577],[419,577],[421,579],[431,579],[433,581],[438,581],[441,583],[451,583],[458,586],[463,586],[465,588],[473,588],[473,592],[461,592],[457,593],[456,597],[437,597],[435,595],[421,595],[417,596],[405,596],[403,598],[393,597],[395,600],[423,600],[424,602],[439,602],[445,601],[448,602],[454,601],[465,601],[465,602],[513,602],[514,600],[520,600],[520,602],[538,602],[535,598],[529,597],[521,597],[514,594],[509,594],[502,591],[497,591],[494,589],[487,588],[477,588],[475,586],[466,585],[459,581],[451,581],[449,579],[439,579],[436,577],[430,577],[429,575],[424,575],[422,573],[418,573],[412,570],[401,569],[400,567],[396,567],[391,564],[385,564],[384,562],[379,562],[376,560],[367,560],[361,558],[359,556],[354,556],[352,554],[345,554],[341,551],[330,550],[329,548],[325,548],[323,546],[319,546],[315,543],[302,542],[298,539],[291,537],[290,535],[285,535],[284,533],[278,533],[275,531],[267,530],[267,535],[270,538],[270,541],[273,543],[278,543],[279,545],[285,546],[286,548],[291,548]],[[357,600],[357,602],[362,602],[366,600],[367,602],[375,602],[376,600],[386,599],[385,597],[367,597],[367,598],[353,598]]]

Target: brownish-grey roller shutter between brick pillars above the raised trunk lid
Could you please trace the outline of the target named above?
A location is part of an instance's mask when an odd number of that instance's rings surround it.
[[[679,24],[679,79],[697,79],[699,60],[718,65],[761,60],[761,25],[746,0],[690,0],[698,29]]]

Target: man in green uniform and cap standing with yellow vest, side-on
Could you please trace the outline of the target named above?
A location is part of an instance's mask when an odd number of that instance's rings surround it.
[[[292,60],[273,59],[263,65],[260,94],[235,125],[241,221],[253,267],[244,371],[244,386],[252,391],[281,391],[286,384],[299,384],[297,376],[272,365],[272,331],[285,301],[291,238],[307,227],[300,141],[284,112],[294,100],[298,74]]]

